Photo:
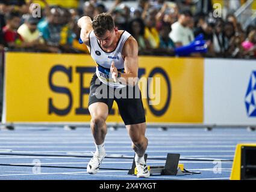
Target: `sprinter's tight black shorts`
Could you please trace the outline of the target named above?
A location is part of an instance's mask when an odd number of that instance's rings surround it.
[[[146,122],[142,94],[138,85],[134,87],[126,86],[125,88],[112,88],[100,82],[96,74],[93,74],[90,82],[88,106],[93,103],[102,102],[107,104],[108,113],[110,113],[114,101],[117,103],[125,125]]]

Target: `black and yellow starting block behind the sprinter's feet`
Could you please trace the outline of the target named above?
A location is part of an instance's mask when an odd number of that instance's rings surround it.
[[[134,155],[135,157],[135,155]],[[148,154],[144,155],[145,162]],[[187,172],[184,169],[184,164],[179,164],[180,154],[167,154],[166,163],[164,166],[148,166],[150,175],[185,175]],[[190,173],[191,174],[191,173]],[[128,175],[137,175],[137,169],[135,160],[133,159],[133,165],[128,172]]]

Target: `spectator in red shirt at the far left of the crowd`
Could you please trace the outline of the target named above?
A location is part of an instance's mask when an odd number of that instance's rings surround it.
[[[17,32],[20,25],[20,14],[14,11],[5,16],[7,25],[3,28],[4,40],[9,49],[22,49],[33,47],[35,42],[27,43]]]

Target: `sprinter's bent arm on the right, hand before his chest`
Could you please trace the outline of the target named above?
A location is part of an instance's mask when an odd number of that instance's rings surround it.
[[[139,49],[137,41],[131,36],[123,46],[122,55],[125,59],[125,73],[120,74],[120,81],[126,85],[135,86],[138,80],[139,70]]]

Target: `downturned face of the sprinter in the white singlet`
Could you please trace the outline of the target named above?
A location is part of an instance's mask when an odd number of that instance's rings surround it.
[[[112,46],[114,43],[114,40],[117,37],[118,29],[114,28],[112,31],[107,30],[102,37],[97,37],[99,40],[99,44],[101,44],[102,47],[107,49],[108,47]]]

